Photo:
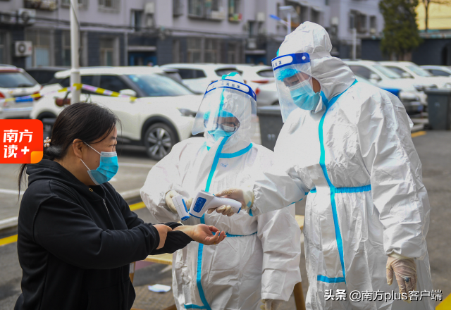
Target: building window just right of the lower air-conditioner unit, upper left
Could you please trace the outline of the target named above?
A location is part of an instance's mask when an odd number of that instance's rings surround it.
[[[33,54],[25,60],[27,68],[39,66],[51,66],[51,34],[45,30],[30,31],[25,33],[27,41],[33,44]]]

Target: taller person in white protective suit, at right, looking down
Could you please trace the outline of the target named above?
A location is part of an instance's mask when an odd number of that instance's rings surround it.
[[[273,59],[285,121],[275,164],[252,185],[216,195],[239,200],[256,216],[308,194],[307,309],[432,310],[430,298],[408,303],[385,295],[407,299],[432,289],[430,206],[412,122],[393,94],[356,83],[331,48],[314,23],[285,37]],[[346,290],[346,300],[326,298],[338,290]],[[371,300],[353,301],[366,290],[374,292]]]

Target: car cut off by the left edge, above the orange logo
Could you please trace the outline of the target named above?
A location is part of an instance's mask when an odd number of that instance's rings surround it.
[[[25,97],[37,94],[41,85],[25,70],[15,66],[0,66],[0,99]],[[0,104],[0,118],[27,118],[33,99],[8,101]]]

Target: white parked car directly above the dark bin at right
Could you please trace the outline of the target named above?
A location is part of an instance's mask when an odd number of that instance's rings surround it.
[[[382,66],[395,71],[406,79],[412,79],[425,88],[451,88],[451,77],[433,76],[410,61],[380,61]]]

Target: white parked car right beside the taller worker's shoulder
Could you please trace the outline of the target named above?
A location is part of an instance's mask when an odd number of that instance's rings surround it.
[[[412,79],[404,79],[395,71],[375,61],[345,61],[345,63],[350,66],[354,75],[366,78],[373,85],[382,89],[400,89],[399,97],[407,113],[418,113],[427,106],[427,96],[423,92],[425,85],[417,84],[418,82]]]

